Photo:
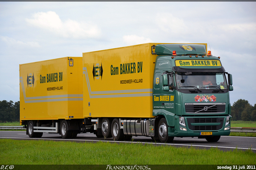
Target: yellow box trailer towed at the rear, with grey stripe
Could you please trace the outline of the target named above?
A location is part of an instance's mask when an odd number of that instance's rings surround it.
[[[62,120],[83,119],[82,100],[82,57],[20,64],[20,122],[30,136],[59,132]]]

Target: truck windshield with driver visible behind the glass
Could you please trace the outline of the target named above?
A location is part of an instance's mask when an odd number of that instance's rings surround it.
[[[180,90],[228,89],[224,73],[176,72],[176,83]]]

